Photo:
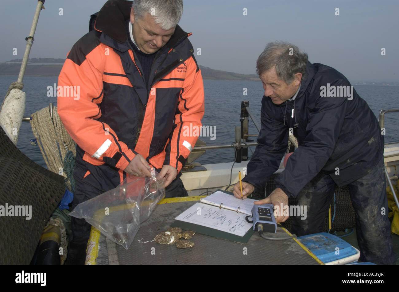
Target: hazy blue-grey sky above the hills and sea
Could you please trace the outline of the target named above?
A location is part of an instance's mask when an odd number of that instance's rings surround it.
[[[105,0],[46,0],[31,58],[65,58]],[[256,73],[271,41],[288,41],[355,81],[399,81],[398,0],[183,0],[179,25],[199,65]],[[0,0],[0,62],[22,58],[37,0]],[[60,10],[62,8],[62,10]],[[339,9],[339,15],[338,10]],[[63,15],[59,15],[62,11]],[[246,14],[246,15],[244,15]],[[13,49],[17,48],[17,56]],[[383,50],[383,51],[381,51]],[[384,53],[385,55],[381,55]]]

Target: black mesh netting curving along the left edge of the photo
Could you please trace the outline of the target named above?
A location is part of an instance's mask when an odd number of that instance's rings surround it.
[[[0,126],[0,264],[30,263],[64,192],[63,176],[30,160]],[[29,208],[31,219],[27,220]]]

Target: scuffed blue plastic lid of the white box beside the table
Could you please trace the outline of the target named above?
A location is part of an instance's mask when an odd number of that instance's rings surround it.
[[[326,232],[300,236],[298,240],[324,263],[356,254],[352,245]]]

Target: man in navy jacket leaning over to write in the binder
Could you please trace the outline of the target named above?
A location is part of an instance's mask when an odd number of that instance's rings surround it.
[[[356,213],[359,261],[394,264],[383,162],[384,139],[377,119],[349,81],[332,67],[310,63],[290,43],[268,43],[257,60],[263,83],[261,132],[243,179],[243,195],[262,189],[279,168],[288,135],[298,148],[275,179],[277,188],[257,204],[306,206],[294,217],[296,235],[321,232],[336,185],[348,185]],[[241,197],[239,183],[234,195]],[[284,222],[286,213],[277,213]]]

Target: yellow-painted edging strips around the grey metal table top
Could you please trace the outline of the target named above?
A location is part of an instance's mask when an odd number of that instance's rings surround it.
[[[192,197],[175,197],[175,198],[165,198],[161,200],[158,205],[160,204],[168,204],[168,203],[178,203],[178,202],[190,202],[190,201],[199,201],[199,199],[204,198],[206,196],[192,196]],[[292,235],[287,229],[283,228],[282,229],[288,233],[289,235]],[[86,261],[85,264],[96,264],[96,259],[98,255],[98,247],[99,247],[99,240],[100,240],[100,235],[101,232],[96,229],[95,227],[91,227],[90,231],[90,238],[89,242],[87,243],[87,255],[86,255]],[[316,260],[319,264],[324,264],[314,253],[312,253],[307,247],[305,247],[298,239],[293,238],[296,243],[302,249],[306,251],[312,258]]]

